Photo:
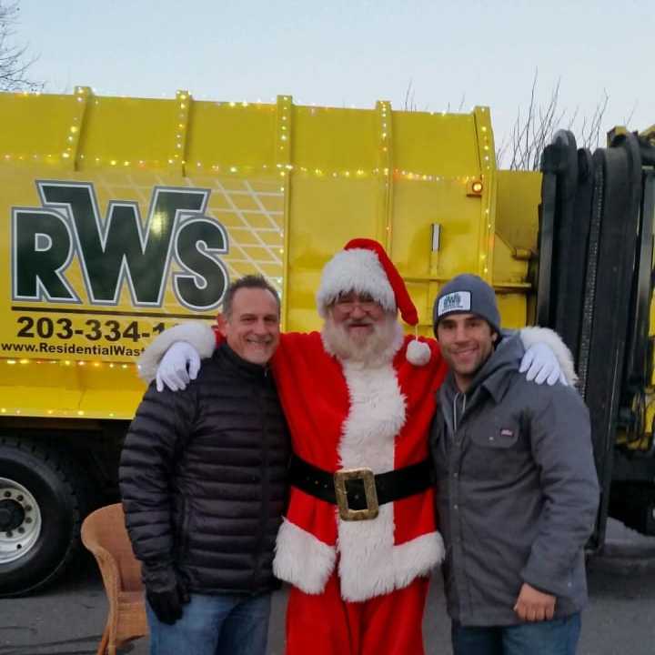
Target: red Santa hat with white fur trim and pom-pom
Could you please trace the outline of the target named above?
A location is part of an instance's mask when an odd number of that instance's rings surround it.
[[[323,268],[317,291],[318,313],[326,317],[328,307],[344,293],[355,291],[374,298],[387,311],[399,311],[402,319],[418,329],[418,312],[403,278],[377,241],[355,238]],[[428,344],[414,339],[408,345],[408,361],[416,366],[428,363]]]

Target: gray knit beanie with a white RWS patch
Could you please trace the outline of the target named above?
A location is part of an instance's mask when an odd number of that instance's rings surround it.
[[[484,318],[492,329],[500,332],[496,294],[481,277],[464,273],[453,277],[441,288],[432,310],[435,333],[437,324],[443,317],[456,313],[476,314]]]

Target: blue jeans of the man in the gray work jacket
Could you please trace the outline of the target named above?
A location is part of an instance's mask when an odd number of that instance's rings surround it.
[[[454,655],[575,655],[580,615],[512,626],[461,626],[453,622]]]

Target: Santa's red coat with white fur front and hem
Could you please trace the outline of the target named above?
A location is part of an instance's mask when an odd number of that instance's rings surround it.
[[[299,457],[330,472],[374,473],[428,457],[435,391],[447,368],[431,339],[428,364],[410,364],[410,340],[398,334],[388,364],[363,368],[329,355],[318,332],[282,335],[271,364]],[[379,510],[376,519],[345,521],[331,503],[292,487],[277,577],[320,593],[338,566],[342,597],[367,600],[427,575],[443,559],[432,489]]]

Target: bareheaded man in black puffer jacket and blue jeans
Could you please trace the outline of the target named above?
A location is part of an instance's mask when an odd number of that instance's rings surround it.
[[[241,278],[218,324],[226,342],[194,383],[148,388],[121,456],[151,655],[266,652],[289,457],[267,368],[279,340],[275,288]]]

